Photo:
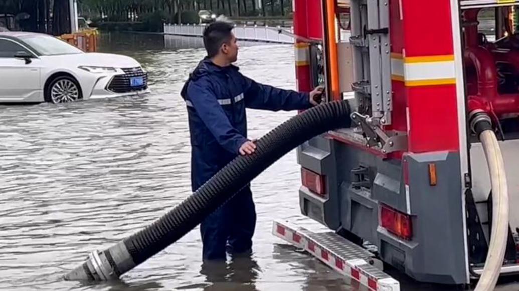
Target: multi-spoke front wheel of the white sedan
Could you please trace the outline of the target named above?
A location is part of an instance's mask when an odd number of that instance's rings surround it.
[[[53,104],[75,102],[83,98],[77,81],[69,76],[60,76],[50,82],[45,92],[45,101]]]

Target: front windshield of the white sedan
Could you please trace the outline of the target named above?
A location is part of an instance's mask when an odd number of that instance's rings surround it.
[[[42,55],[81,54],[80,49],[57,38],[46,35],[31,35],[20,38]]]

